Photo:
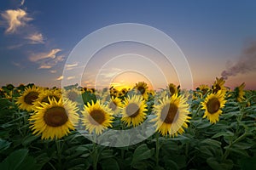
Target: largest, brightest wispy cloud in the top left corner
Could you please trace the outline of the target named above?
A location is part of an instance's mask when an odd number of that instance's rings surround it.
[[[7,23],[6,33],[15,33],[20,26],[26,26],[27,22],[32,20],[23,9],[8,9],[1,14],[3,20]]]

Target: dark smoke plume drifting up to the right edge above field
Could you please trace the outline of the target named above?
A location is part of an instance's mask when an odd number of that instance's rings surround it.
[[[234,65],[222,71],[221,76],[228,79],[228,77],[235,77],[237,74],[246,74],[250,71],[256,71],[256,42],[250,43],[241,54],[241,58]]]

